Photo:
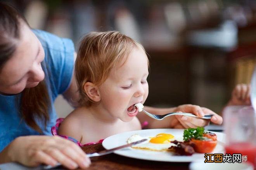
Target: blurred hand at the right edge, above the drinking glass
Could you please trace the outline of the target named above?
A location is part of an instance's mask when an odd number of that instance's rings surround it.
[[[238,84],[234,88],[231,94],[231,99],[228,101],[228,105],[251,105],[251,85]]]

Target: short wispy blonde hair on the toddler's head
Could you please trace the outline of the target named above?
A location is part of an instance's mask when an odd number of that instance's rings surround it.
[[[100,86],[107,79],[112,68],[121,66],[121,61],[126,61],[134,48],[142,48],[145,52],[139,42],[118,31],[90,32],[83,37],[74,70],[80,93],[80,105],[90,106],[94,103],[86,95],[84,84],[91,82]]]

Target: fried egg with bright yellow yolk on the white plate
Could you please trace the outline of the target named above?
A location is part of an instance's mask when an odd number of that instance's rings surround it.
[[[141,139],[147,139],[147,141],[131,147],[135,149],[150,151],[168,151],[168,148],[171,146],[176,146],[174,143],[170,143],[170,141],[175,140],[175,136],[167,133],[159,133],[153,137],[142,137],[138,134],[133,134],[130,138],[127,139],[127,143],[132,143]]]

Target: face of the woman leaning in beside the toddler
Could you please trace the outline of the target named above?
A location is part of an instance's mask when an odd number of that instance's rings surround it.
[[[0,72],[0,93],[17,94],[24,88],[38,85],[45,77],[41,66],[44,57],[40,41],[31,29],[21,22],[17,48]]]

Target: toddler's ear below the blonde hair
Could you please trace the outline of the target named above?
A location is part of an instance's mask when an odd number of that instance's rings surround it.
[[[88,97],[90,97],[90,99],[92,99],[95,102],[100,101],[100,94],[98,91],[98,87],[95,86],[93,83],[86,82],[83,85],[83,89],[85,90],[85,93],[88,95]]]

